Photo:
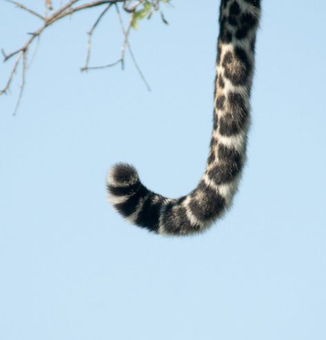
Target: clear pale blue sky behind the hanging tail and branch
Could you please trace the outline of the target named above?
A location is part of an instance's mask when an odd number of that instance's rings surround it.
[[[326,339],[325,1],[263,1],[248,161],[222,221],[161,237],[106,200],[117,161],[168,197],[203,174],[219,2],[174,0],[170,26],[132,32],[152,92],[129,56],[123,72],[79,72],[98,9],[45,32],[16,117],[18,78],[0,98],[1,340]],[[0,2],[7,52],[38,26]],[[112,10],[92,65],[122,39]]]

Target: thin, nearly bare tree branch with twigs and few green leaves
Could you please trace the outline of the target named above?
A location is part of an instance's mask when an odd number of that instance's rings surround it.
[[[81,68],[82,71],[87,71],[87,70],[96,70],[96,69],[101,69],[101,68],[110,68],[112,66],[115,66],[119,63],[121,63],[121,68],[124,69],[125,65],[125,50],[128,49],[130,52],[130,56],[132,57],[132,61],[134,63],[134,66],[136,67],[136,70],[139,72],[139,75],[141,79],[143,79],[145,86],[147,87],[148,90],[150,90],[150,86],[148,85],[143,72],[139,68],[139,65],[134,57],[134,53],[132,52],[132,49],[130,47],[130,42],[129,42],[129,35],[130,35],[130,30],[132,27],[136,28],[136,21],[139,19],[143,19],[143,17],[150,17],[153,12],[159,10],[159,3],[160,1],[163,0],[97,0],[97,1],[90,1],[88,3],[83,3],[82,5],[79,6],[74,6],[76,5],[80,0],[70,0],[67,3],[65,3],[63,6],[61,6],[58,10],[54,10],[52,6],[52,1],[50,0],[45,0],[45,15],[41,15],[38,12],[32,10],[31,8],[28,8],[27,6],[23,5],[22,3],[14,0],[6,0],[9,3],[14,4],[17,6],[17,8],[20,8],[21,10],[24,10],[30,14],[32,14],[34,17],[37,17],[43,21],[42,25],[35,30],[34,32],[30,32],[29,39],[24,43],[21,48],[18,48],[17,50],[14,50],[13,52],[6,53],[3,49],[1,50],[3,54],[3,61],[9,61],[13,57],[16,57],[14,60],[12,69],[10,71],[8,80],[3,86],[3,88],[0,88],[0,96],[1,94],[5,94],[8,92],[10,89],[10,85],[12,83],[12,79],[14,78],[14,74],[17,72],[17,69],[19,67],[19,64],[21,63],[21,85],[20,85],[20,90],[19,90],[19,97],[17,99],[17,104],[14,109],[14,114],[17,112],[17,108],[19,106],[19,102],[21,101],[21,97],[23,94],[23,88],[26,83],[26,70],[28,68],[28,50],[30,49],[30,46],[34,42],[36,38],[41,37],[41,34],[43,31],[48,28],[48,26],[52,26],[54,23],[59,21],[60,19],[63,19],[65,17],[71,16],[72,14],[75,14],[76,12],[79,12],[81,10],[87,10],[90,8],[96,8],[100,6],[105,6],[105,8],[101,11],[99,14],[99,17],[96,19],[90,30],[88,31],[88,50],[87,50],[87,55],[86,55],[86,60],[85,60],[85,66]],[[165,0],[165,2],[168,3],[168,0]],[[128,13],[129,15],[129,23],[127,29],[124,28],[123,24],[123,19],[121,12],[119,10],[118,3],[122,3],[121,8]],[[119,17],[119,22],[121,25],[121,30],[123,33],[123,43],[121,46],[121,57],[117,60],[114,61],[113,63],[108,63],[107,65],[104,66],[89,66],[90,63],[90,54],[91,54],[91,48],[92,48],[92,34],[94,33],[94,30],[96,30],[96,27],[99,25],[100,21],[103,19],[104,15],[110,8],[114,5],[116,7],[116,11]],[[50,10],[50,14],[47,14],[47,9]],[[140,9],[139,9],[140,8]],[[165,21],[165,20],[163,20]]]

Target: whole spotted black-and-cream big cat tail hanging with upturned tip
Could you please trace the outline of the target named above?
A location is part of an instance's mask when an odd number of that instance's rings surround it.
[[[214,126],[207,167],[198,186],[179,199],[148,190],[136,169],[117,164],[108,174],[114,208],[159,234],[203,232],[230,207],[245,163],[249,97],[261,0],[222,0],[214,81]]]

